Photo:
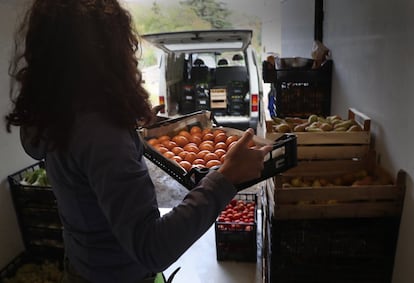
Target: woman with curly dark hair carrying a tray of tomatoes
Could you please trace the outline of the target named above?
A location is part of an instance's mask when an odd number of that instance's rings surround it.
[[[45,159],[64,226],[64,282],[153,282],[208,230],[233,185],[260,175],[270,150],[248,148],[249,129],[160,217],[134,130],[153,116],[138,51],[116,0],[35,0],[16,35],[6,125]]]

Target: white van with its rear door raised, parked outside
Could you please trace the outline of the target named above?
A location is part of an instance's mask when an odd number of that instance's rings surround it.
[[[159,103],[167,117],[210,110],[220,125],[256,129],[263,89],[251,30],[146,34],[161,49]]]

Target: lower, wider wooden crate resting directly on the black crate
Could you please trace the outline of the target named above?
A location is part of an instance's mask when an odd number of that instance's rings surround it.
[[[286,179],[308,180],[352,176],[367,172],[381,180],[372,184],[329,183],[326,186],[287,187]],[[375,164],[375,153],[360,160],[308,161],[274,178],[273,190],[268,193],[275,219],[324,219],[357,217],[399,217],[401,215],[406,173],[400,170],[393,179]],[[272,204],[269,204],[271,206]]]

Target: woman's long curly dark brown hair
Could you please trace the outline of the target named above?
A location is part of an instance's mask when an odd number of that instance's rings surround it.
[[[6,128],[35,129],[65,148],[76,113],[120,126],[152,117],[136,57],[139,36],[117,0],[34,0],[15,36]]]

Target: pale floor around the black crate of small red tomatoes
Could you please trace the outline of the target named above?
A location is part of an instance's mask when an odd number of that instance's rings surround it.
[[[158,206],[161,214],[168,212],[182,201],[188,190],[175,181],[151,161],[146,160],[148,170],[157,192]],[[259,192],[263,183],[243,190],[243,192]],[[258,213],[260,214],[260,213]],[[257,223],[258,260],[252,262],[217,261],[214,225],[164,274],[168,277],[181,267],[173,282],[176,283],[255,283],[261,281],[261,217]]]

